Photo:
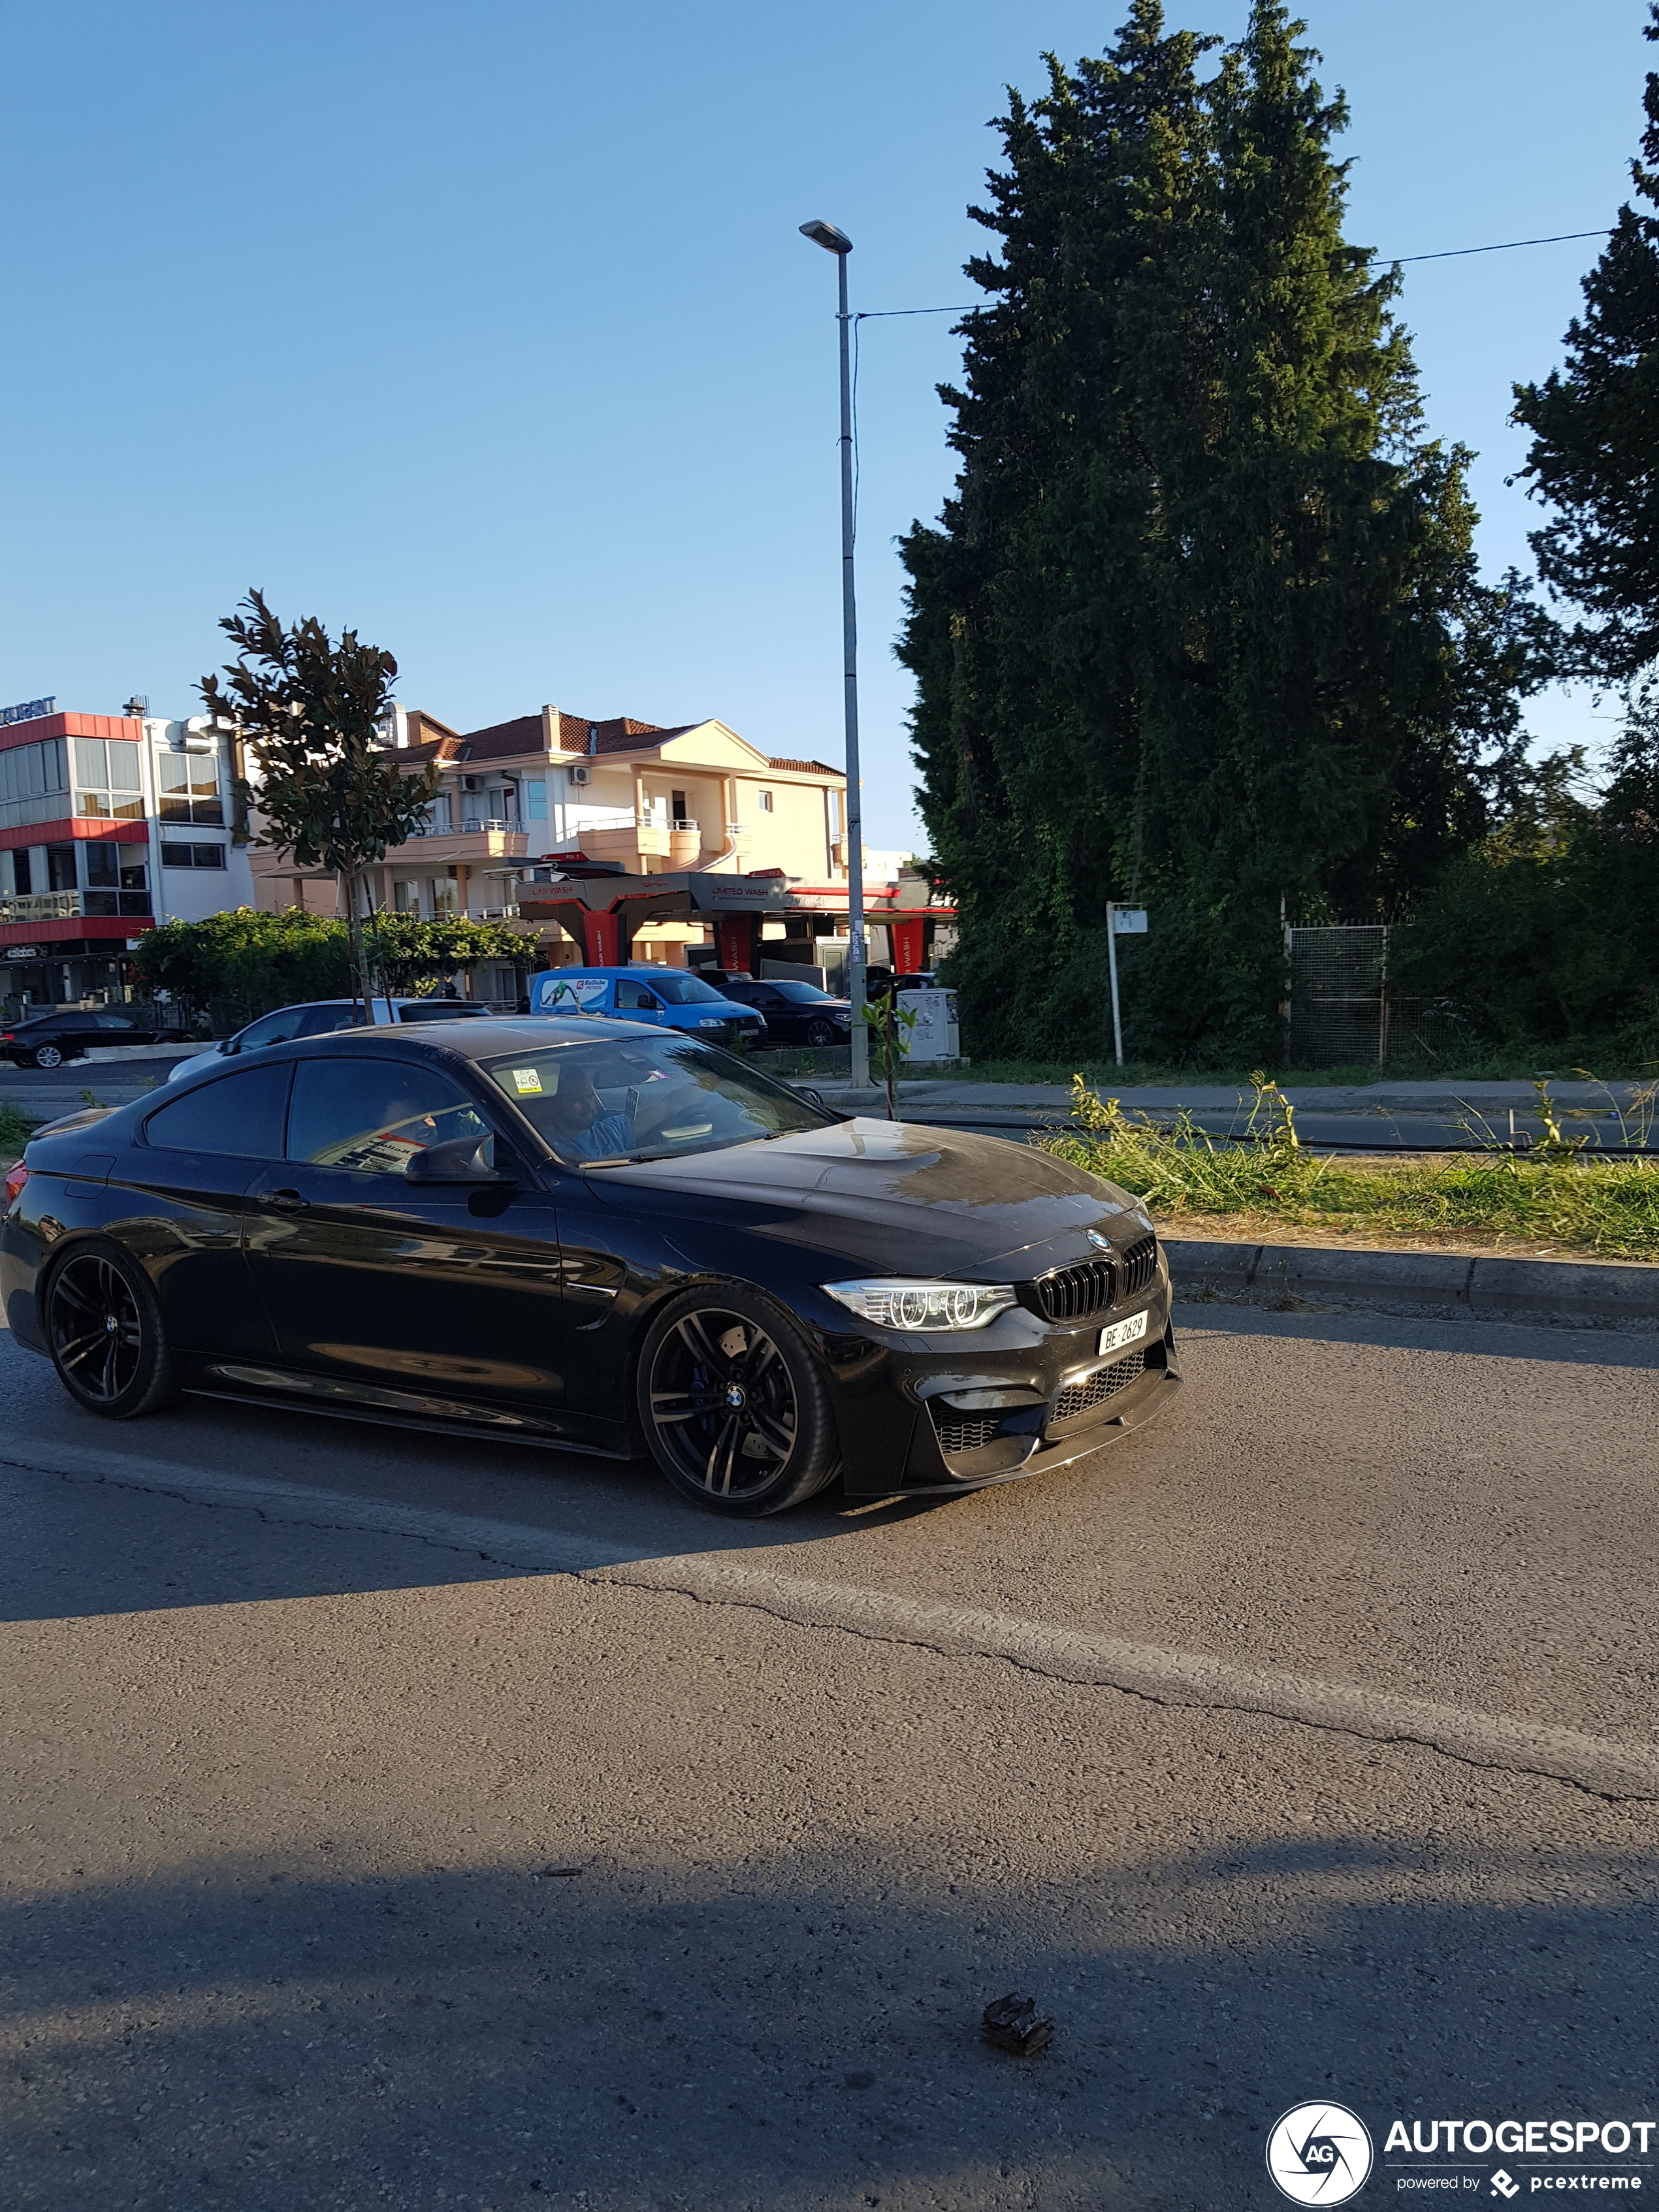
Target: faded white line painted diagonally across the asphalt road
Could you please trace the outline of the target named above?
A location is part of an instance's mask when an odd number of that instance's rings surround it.
[[[1159,1705],[1259,1712],[1376,1743],[1416,1743],[1469,1765],[1546,1774],[1597,1796],[1659,1801],[1659,1747],[1652,1745],[1613,1743],[1575,1728],[1551,1728],[1542,1721],[1515,1721],[1506,1714],[1396,1697],[1356,1683],[1237,1666],[1230,1659],[1164,1650],[1155,1644],[1057,1628],[1006,1613],[975,1613],[891,1590],[810,1582],[730,1555],[641,1557],[639,1544],[427,1506],[398,1506],[345,1491],[276,1486],[252,1475],[210,1473],[166,1460],[135,1458],[113,1469],[106,1451],[77,1444],[40,1449],[11,1444],[0,1453],[0,1467],[108,1482],[117,1489],[164,1491],[199,1504],[241,1506],[270,1522],[414,1537],[531,1573],[582,1575],[586,1582],[672,1593],[710,1606],[750,1606],[799,1628],[830,1628],[880,1644],[907,1644],[951,1659],[1004,1659],[1033,1674],[1119,1690]]]

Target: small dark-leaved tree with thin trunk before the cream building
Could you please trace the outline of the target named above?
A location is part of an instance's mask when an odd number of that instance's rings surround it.
[[[201,679],[201,703],[241,732],[259,770],[259,843],[341,883],[352,998],[367,1000],[367,869],[414,834],[438,790],[436,768],[403,774],[380,734],[398,664],[356,630],[334,644],[314,615],[285,628],[261,591],[219,628],[239,655],[223,684]]]

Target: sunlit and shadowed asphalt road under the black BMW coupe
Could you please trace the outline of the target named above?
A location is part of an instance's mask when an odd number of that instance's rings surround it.
[[[1369,2197],[1659,2119],[1659,1347],[1183,1321],[1062,1475],[739,1531],[0,1338],[4,2203],[1228,2212],[1305,2097]]]

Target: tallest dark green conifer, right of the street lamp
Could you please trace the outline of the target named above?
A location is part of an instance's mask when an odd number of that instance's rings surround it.
[[[1146,1051],[1267,1051],[1279,902],[1378,911],[1480,827],[1513,723],[1464,456],[1420,436],[1394,274],[1343,241],[1345,111],[1256,0],[1135,0],[1002,122],[947,389],[962,453],[905,540],[922,812],[982,1048],[1099,1037],[1108,898],[1157,909]]]

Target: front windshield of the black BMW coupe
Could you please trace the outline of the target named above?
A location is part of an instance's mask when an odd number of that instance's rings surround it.
[[[695,1037],[529,1046],[489,1075],[571,1166],[714,1152],[834,1119]]]

